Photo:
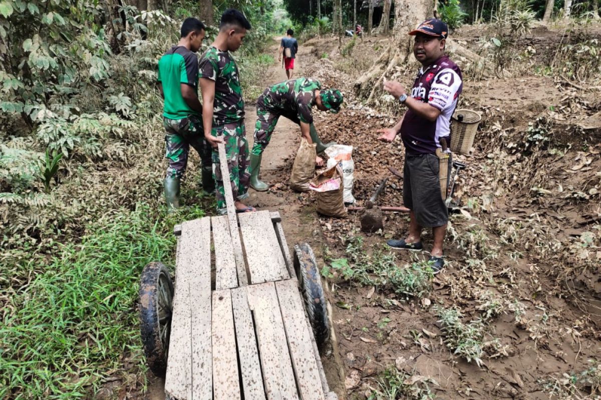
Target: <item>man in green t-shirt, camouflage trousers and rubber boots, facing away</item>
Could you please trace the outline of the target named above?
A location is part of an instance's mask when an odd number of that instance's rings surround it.
[[[200,20],[186,18],[177,46],[171,47],[159,60],[159,90],[165,100],[165,157],[169,160],[163,188],[169,212],[179,207],[180,180],[186,171],[190,146],[196,149],[203,164],[203,190],[208,193],[215,190],[211,149],[203,134],[203,106],[198,100],[196,52],[203,43],[204,34],[205,27]]]

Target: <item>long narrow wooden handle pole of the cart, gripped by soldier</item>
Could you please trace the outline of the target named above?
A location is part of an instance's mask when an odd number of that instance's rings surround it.
[[[236,207],[234,206],[234,196],[231,193],[230,170],[227,163],[227,154],[225,154],[225,145],[218,144],[219,149],[219,167],[221,168],[221,178],[224,184],[225,204],[227,206],[227,217],[230,225],[231,242],[234,249],[234,258],[236,260],[236,270],[238,273],[238,283],[240,286],[248,285],[248,276],[246,276],[246,266],[242,254],[242,242],[240,242],[240,233],[238,231],[238,220],[236,216]]]

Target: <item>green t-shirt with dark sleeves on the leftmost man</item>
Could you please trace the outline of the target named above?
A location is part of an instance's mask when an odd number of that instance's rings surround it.
[[[198,58],[196,53],[183,46],[173,46],[159,60],[158,80],[163,85],[165,103],[163,116],[169,119],[183,119],[189,115],[199,115],[192,110],[182,97],[181,83],[192,86],[198,95]]]

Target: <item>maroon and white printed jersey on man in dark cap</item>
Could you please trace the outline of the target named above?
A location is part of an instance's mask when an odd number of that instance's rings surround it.
[[[441,137],[447,138],[447,143],[451,143],[451,116],[463,89],[462,79],[461,70],[446,55],[426,69],[419,69],[411,97],[436,107],[441,110],[441,114],[436,121],[428,121],[412,110],[407,110],[401,125],[401,139],[407,154],[433,154],[437,147],[441,147]]]

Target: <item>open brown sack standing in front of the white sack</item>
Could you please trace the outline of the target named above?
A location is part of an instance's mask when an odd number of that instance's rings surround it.
[[[344,207],[343,172],[336,164],[311,181],[311,190],[317,192],[317,212],[323,215],[346,218]]]

